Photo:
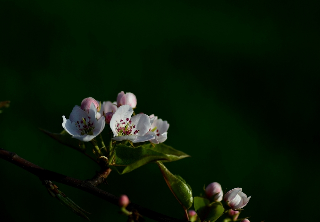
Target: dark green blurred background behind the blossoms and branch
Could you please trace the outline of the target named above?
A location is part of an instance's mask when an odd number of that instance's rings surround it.
[[[92,160],[38,127],[60,132],[62,115],[84,98],[132,92],[137,112],[170,123],[165,144],[192,156],[165,165],[194,196],[216,181],[252,195],[240,215],[251,221],[311,221],[319,199],[315,2],[1,0],[0,101],[11,105],[0,114],[0,147],[91,178]],[[108,183],[99,187],[183,218],[156,164],[112,172]],[[118,207],[55,184],[91,221],[126,221]],[[84,221],[2,159],[0,189],[1,221]]]

